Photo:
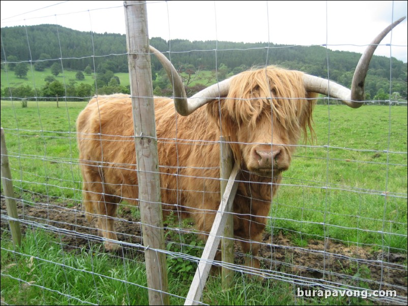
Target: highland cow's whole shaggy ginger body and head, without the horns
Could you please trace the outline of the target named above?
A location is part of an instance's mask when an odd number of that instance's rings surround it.
[[[241,179],[234,201],[234,233],[244,253],[257,255],[272,196],[290,165],[299,138],[311,129],[314,94],[302,73],[275,67],[237,75],[225,100],[212,101],[187,117],[168,98],[155,99],[164,215],[178,210],[202,233],[211,230],[220,203],[219,137],[229,136]],[[111,218],[121,199],[137,204],[136,155],[131,100],[99,96],[77,120],[87,212],[98,217],[103,237],[117,239]],[[106,249],[114,249],[105,242]],[[247,262],[255,268],[258,260]]]

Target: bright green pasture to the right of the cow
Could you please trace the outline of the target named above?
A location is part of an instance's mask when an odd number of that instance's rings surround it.
[[[405,107],[331,106],[329,117],[317,106],[317,147],[298,148],[271,226],[406,252],[406,116]]]

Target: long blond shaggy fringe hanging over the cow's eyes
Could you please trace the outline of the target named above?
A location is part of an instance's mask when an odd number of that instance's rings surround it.
[[[256,127],[259,116],[276,120],[290,135],[303,132],[304,140],[310,130],[314,139],[312,111],[317,94],[308,94],[303,73],[274,66],[246,71],[231,81],[230,90],[221,106],[239,125]],[[273,122],[273,121],[272,121]]]

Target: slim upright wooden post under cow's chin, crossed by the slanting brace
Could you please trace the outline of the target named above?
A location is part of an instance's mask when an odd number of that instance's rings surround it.
[[[227,186],[228,177],[231,174],[234,164],[232,150],[225,137],[220,137],[220,177],[221,177],[221,200]],[[232,209],[231,209],[232,211]],[[222,262],[234,263],[234,216],[229,213],[225,223],[224,234],[221,239],[221,256]],[[231,286],[234,279],[234,270],[222,266],[222,287],[227,289]]]

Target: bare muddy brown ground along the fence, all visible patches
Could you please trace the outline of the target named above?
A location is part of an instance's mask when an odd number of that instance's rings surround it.
[[[37,199],[38,200],[38,199]],[[57,203],[51,199],[40,199],[35,205],[22,205],[17,202],[22,230],[27,227],[46,225],[59,234],[67,251],[89,248],[100,243],[95,224],[90,224],[76,202]],[[1,198],[2,215],[7,215],[5,199]],[[141,232],[137,217],[130,207],[121,208],[116,221],[119,239],[131,243],[141,243]],[[2,230],[8,227],[5,218],[1,221]],[[126,248],[127,249],[127,248]],[[135,248],[133,248],[135,249]],[[136,248],[137,249],[137,248]],[[131,252],[143,260],[141,248]],[[130,256],[130,255],[126,255]],[[326,240],[309,240],[302,248],[293,244],[288,237],[278,234],[265,234],[259,251],[261,265],[270,271],[273,279],[287,280],[296,276],[299,286],[316,285],[325,288],[367,288],[371,290],[395,290],[398,302],[406,303],[407,269],[406,254],[374,251],[372,248],[346,246]],[[243,254],[237,250],[236,261],[243,261]],[[397,302],[395,301],[395,302]]]

